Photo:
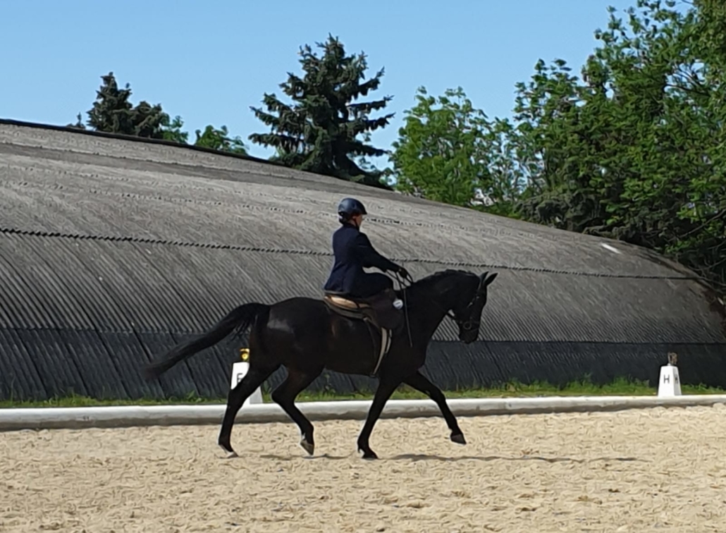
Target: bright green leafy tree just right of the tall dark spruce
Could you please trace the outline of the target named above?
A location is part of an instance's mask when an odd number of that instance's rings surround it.
[[[420,87],[416,99],[417,104],[404,112],[404,126],[393,142],[390,160],[396,189],[511,214],[519,191],[507,158],[502,158],[508,154],[502,152],[499,122],[474,108],[461,87],[447,89],[439,98]]]

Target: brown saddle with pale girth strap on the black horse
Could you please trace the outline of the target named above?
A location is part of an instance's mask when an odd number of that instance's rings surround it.
[[[375,367],[370,377],[375,378],[383,357],[391,348],[392,333],[403,325],[403,312],[393,307],[396,293],[387,289],[367,298],[354,298],[338,293],[326,293],[323,301],[336,314],[352,320],[362,320],[373,339]],[[376,356],[377,359],[376,359]]]

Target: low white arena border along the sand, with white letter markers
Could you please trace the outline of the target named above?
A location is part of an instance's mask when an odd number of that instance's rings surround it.
[[[232,367],[230,386],[248,370],[247,362]],[[696,407],[726,404],[726,394],[682,395],[675,365],[661,367],[656,396],[539,396],[528,398],[456,398],[447,400],[454,416],[532,415],[551,412],[597,412],[652,407]],[[298,402],[311,421],[364,420],[371,400]],[[17,407],[0,409],[0,431],[50,428],[118,428],[219,424],[224,404],[118,405],[108,407]],[[439,417],[430,399],[388,400],[380,418]],[[264,404],[259,389],[237,414],[237,423],[291,422],[277,404]]]

